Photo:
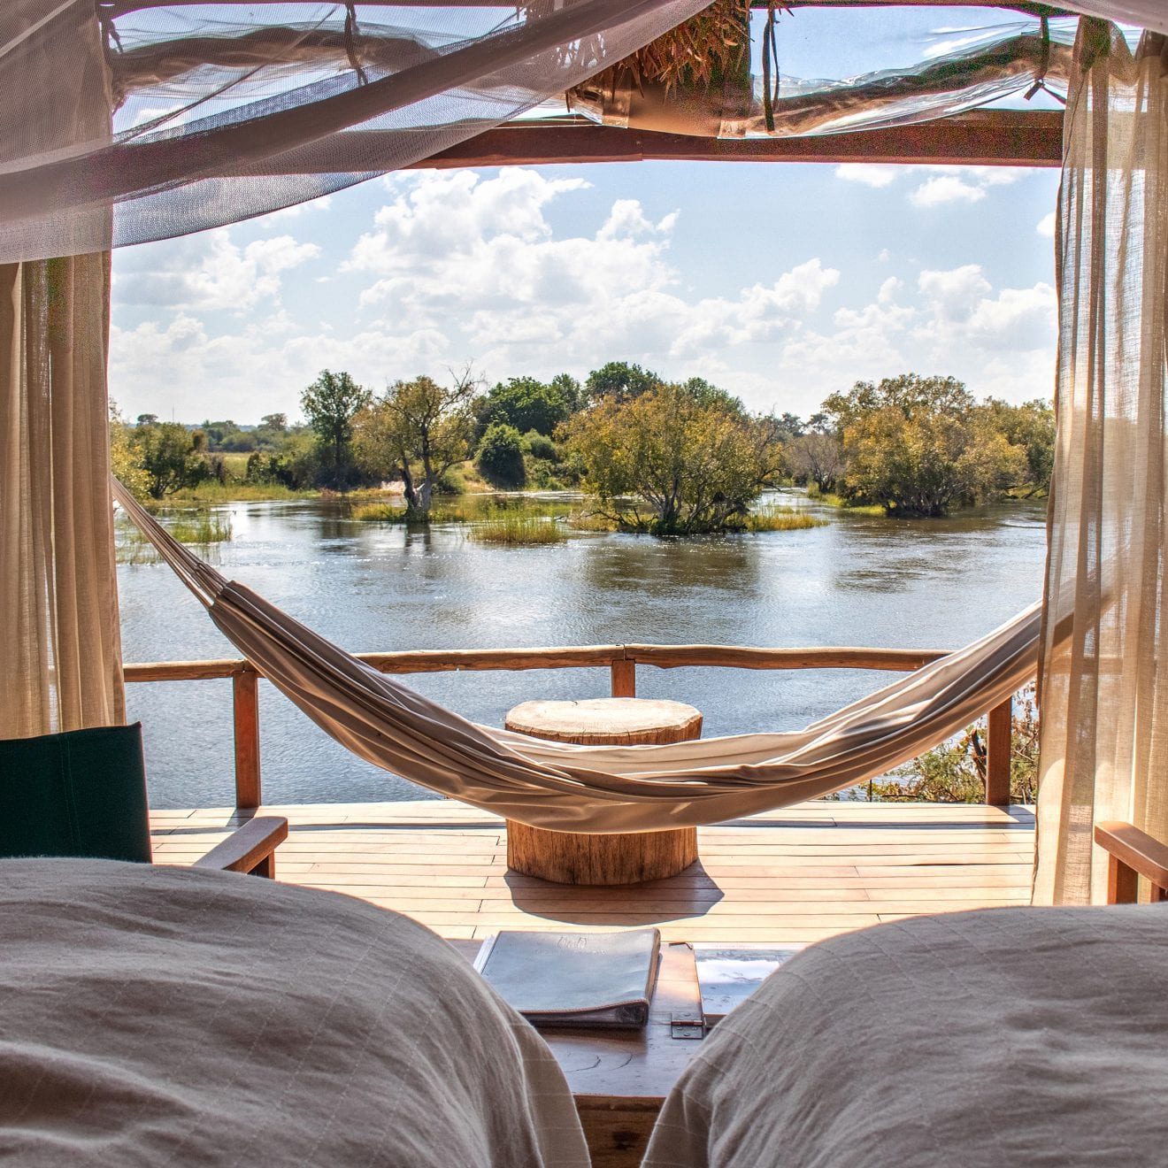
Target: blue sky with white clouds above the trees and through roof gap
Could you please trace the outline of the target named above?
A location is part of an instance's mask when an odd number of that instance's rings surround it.
[[[986,20],[800,11],[780,56],[788,76],[844,77]],[[909,370],[1049,397],[1057,182],[745,162],[389,175],[116,252],[111,394],[131,418],[251,423],[299,416],[322,368],[380,391],[467,364],[494,383],[624,360],[804,416]]]

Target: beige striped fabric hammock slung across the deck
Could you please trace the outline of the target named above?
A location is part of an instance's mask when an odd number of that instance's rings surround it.
[[[440,794],[561,832],[715,823],[862,783],[915,758],[1034,675],[1040,605],[790,734],[576,746],[494,730],[413,693],[223,578],[120,484],[113,494],[228,640],[326,734]]]

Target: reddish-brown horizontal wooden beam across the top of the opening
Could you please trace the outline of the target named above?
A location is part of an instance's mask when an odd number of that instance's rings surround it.
[[[1063,161],[1063,114],[1058,110],[979,110],[891,130],[806,138],[694,138],[585,123],[516,123],[470,138],[410,169],[647,161],[1052,167]]]

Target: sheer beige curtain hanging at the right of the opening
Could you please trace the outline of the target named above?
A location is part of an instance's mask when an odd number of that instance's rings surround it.
[[[1058,450],[1036,903],[1103,898],[1097,820],[1168,839],[1168,39],[1084,21],[1058,207]]]

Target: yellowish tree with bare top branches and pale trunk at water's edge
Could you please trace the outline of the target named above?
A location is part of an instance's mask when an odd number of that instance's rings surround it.
[[[408,510],[430,515],[434,488],[470,452],[477,383],[466,369],[446,388],[431,377],[395,382],[355,422],[357,461],[370,474],[397,475]]]

